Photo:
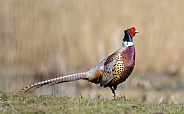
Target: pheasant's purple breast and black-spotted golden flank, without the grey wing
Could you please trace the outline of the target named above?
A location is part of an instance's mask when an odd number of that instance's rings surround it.
[[[116,86],[124,82],[134,69],[135,65],[135,49],[134,46],[124,47],[125,49],[118,50],[112,57],[115,62],[112,69],[113,78],[104,87]]]

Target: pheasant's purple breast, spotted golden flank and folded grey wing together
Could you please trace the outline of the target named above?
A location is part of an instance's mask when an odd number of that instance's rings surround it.
[[[134,47],[126,47],[117,50],[110,55],[104,63],[104,73],[100,81],[100,86],[106,87],[109,82],[111,84],[118,84],[126,80],[133,70],[134,64]]]

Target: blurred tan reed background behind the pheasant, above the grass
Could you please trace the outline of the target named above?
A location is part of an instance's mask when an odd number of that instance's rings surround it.
[[[136,66],[117,96],[184,103],[182,0],[0,0],[0,90],[87,71],[121,47],[135,26]],[[36,94],[112,98],[86,81]]]

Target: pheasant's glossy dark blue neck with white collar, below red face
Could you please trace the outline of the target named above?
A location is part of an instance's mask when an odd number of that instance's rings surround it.
[[[133,39],[132,37],[128,34],[128,33],[125,33],[125,36],[123,38],[123,42],[122,42],[122,46],[133,46],[134,43],[133,43]]]

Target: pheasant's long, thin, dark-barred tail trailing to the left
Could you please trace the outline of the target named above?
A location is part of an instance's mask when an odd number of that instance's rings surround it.
[[[34,84],[31,84],[31,85],[24,87],[19,92],[27,92],[32,88],[39,88],[43,85],[54,85],[54,84],[58,84],[58,83],[70,82],[70,81],[75,81],[75,80],[80,80],[80,79],[88,79],[87,72],[66,75],[66,76],[62,76],[62,77],[53,78],[53,79],[41,81],[38,83],[34,83]]]

